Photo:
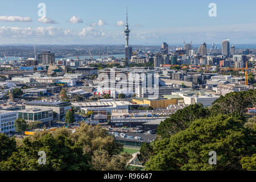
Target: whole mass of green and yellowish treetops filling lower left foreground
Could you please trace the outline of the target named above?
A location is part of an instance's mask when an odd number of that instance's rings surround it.
[[[105,129],[84,123],[75,133],[64,127],[53,134],[36,132],[23,139],[17,151],[13,139],[10,142],[13,144],[0,148],[6,154],[0,162],[1,170],[126,170],[131,158],[130,154],[120,154],[122,144]],[[39,151],[46,152],[45,165],[38,163]]]

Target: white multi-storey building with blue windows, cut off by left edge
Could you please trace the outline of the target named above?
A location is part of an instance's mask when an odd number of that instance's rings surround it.
[[[17,119],[17,111],[0,110],[0,133],[9,133],[9,131],[15,131],[15,119]]]

